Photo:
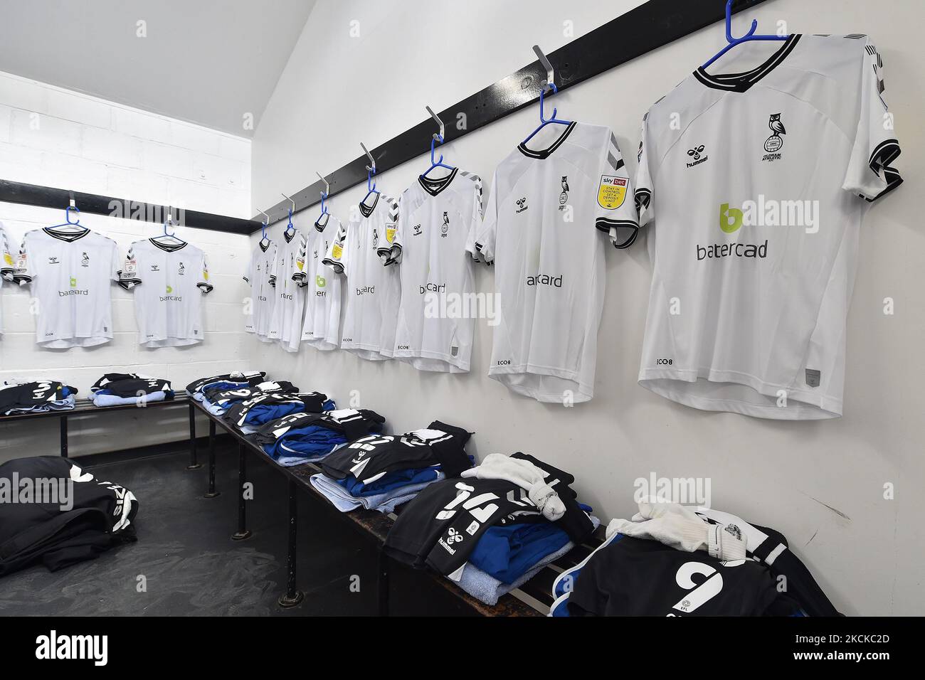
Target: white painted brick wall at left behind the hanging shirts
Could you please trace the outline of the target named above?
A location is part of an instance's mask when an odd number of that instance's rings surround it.
[[[250,161],[249,140],[0,72],[0,179],[247,217]],[[19,243],[29,229],[63,222],[64,207],[0,203],[0,221]],[[84,214],[80,221],[117,241],[123,254],[132,241],[162,231],[160,224],[109,216]],[[240,279],[249,254],[247,237],[203,229],[176,233],[205,251],[215,285],[205,298],[202,344],[141,348],[132,293],[114,285],[113,340],[89,349],[42,350],[35,344],[30,288],[5,283],[0,380],[55,377],[86,396],[98,377],[114,370],[166,377],[183,389],[196,377],[248,364],[241,321],[246,290]],[[69,419],[70,453],[184,439],[187,417],[185,407],[74,417]],[[57,451],[54,420],[0,425],[0,462]]]

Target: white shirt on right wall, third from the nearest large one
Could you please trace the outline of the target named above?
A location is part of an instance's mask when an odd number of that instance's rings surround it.
[[[387,265],[400,262],[395,358],[424,371],[469,370],[475,324],[473,256],[482,179],[454,168],[401,194]],[[468,251],[468,253],[467,253]]]

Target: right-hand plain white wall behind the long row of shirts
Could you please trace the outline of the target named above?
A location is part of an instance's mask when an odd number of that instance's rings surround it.
[[[719,2],[719,0],[717,0]],[[253,139],[253,207],[291,192],[425,117],[499,80],[533,58],[622,14],[637,0],[562,3],[556,0],[464,5],[424,0],[319,3],[314,7]],[[651,269],[640,240],[607,254],[608,281],[600,327],[596,396],[565,409],[510,393],[487,375],[491,332],[480,322],[467,376],[425,374],[397,362],[370,364],[345,352],[303,348],[290,355],[253,342],[255,365],[273,365],[306,389],[339,402],[359,390],[364,405],[388,417],[392,431],[442,418],[475,430],[478,455],[528,451],[578,479],[582,499],[605,519],[635,512],[634,480],[707,477],[713,507],[771,525],[849,614],[918,614],[925,608],[925,238],[919,194],[925,134],[925,58],[919,26],[925,6],[891,0],[871,11],[863,0],[773,0],[734,19],[744,33],[777,21],[805,33],[865,32],[886,65],[886,97],[904,153],[897,166],[907,184],[867,218],[848,319],[845,417],[828,422],[762,421],[709,414],[668,402],[636,384]],[[351,38],[351,21],[360,37]],[[354,24],[355,26],[355,24]],[[720,25],[672,43],[556,97],[564,117],[610,125],[628,165],[643,113],[723,43]],[[488,181],[499,161],[536,125],[530,107],[445,149],[450,163]],[[451,121],[447,121],[450,123]],[[422,141],[422,145],[425,141]],[[425,158],[378,178],[398,195],[425,169]],[[490,191],[490,187],[488,188]],[[348,216],[364,195],[356,188],[331,201]],[[316,210],[297,216],[308,229]],[[279,238],[281,227],[274,229]],[[477,289],[493,290],[491,271],[478,270]],[[896,313],[882,314],[893,297]],[[883,485],[895,485],[895,500]]]

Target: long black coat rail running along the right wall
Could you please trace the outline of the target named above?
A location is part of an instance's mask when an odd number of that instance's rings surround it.
[[[762,2],[764,0],[736,0],[732,11],[738,13]],[[565,90],[725,18],[725,0],[649,0],[645,5],[638,6],[549,53],[547,56],[555,68],[556,87],[560,91]],[[717,32],[717,49],[723,44],[724,36]],[[529,45],[524,45],[524,52],[527,49]],[[704,55],[704,58],[709,56]],[[693,70],[699,64],[685,66]],[[445,142],[459,139],[468,132],[478,130],[536,102],[539,99],[540,84],[544,80],[546,69],[537,60],[461,102],[439,111],[438,116],[446,123]],[[552,100],[550,105],[554,103],[555,95],[552,96]],[[424,106],[425,102],[421,105]],[[464,113],[466,117],[465,130],[456,128],[456,117],[460,113]],[[405,130],[397,137],[377,146],[371,152],[376,158],[376,174],[382,174],[389,168],[398,167],[418,155],[429,153],[431,135],[435,131],[437,130],[434,120],[428,117],[411,130]],[[356,142],[359,143],[361,140],[357,139]],[[330,183],[328,195],[345,192],[366,181],[367,163],[368,159],[362,155],[327,175],[326,179]],[[321,181],[315,181],[293,194],[295,212],[320,203],[324,186]],[[282,201],[267,209],[270,224],[286,219],[290,207],[288,201]],[[260,221],[257,217],[254,219]],[[256,229],[260,229],[260,226]]]

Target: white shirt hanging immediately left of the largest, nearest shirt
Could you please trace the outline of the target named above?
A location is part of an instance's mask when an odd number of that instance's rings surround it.
[[[548,125],[495,170],[475,248],[494,262],[490,377],[540,402],[594,396],[604,252],[638,226],[610,128]]]

